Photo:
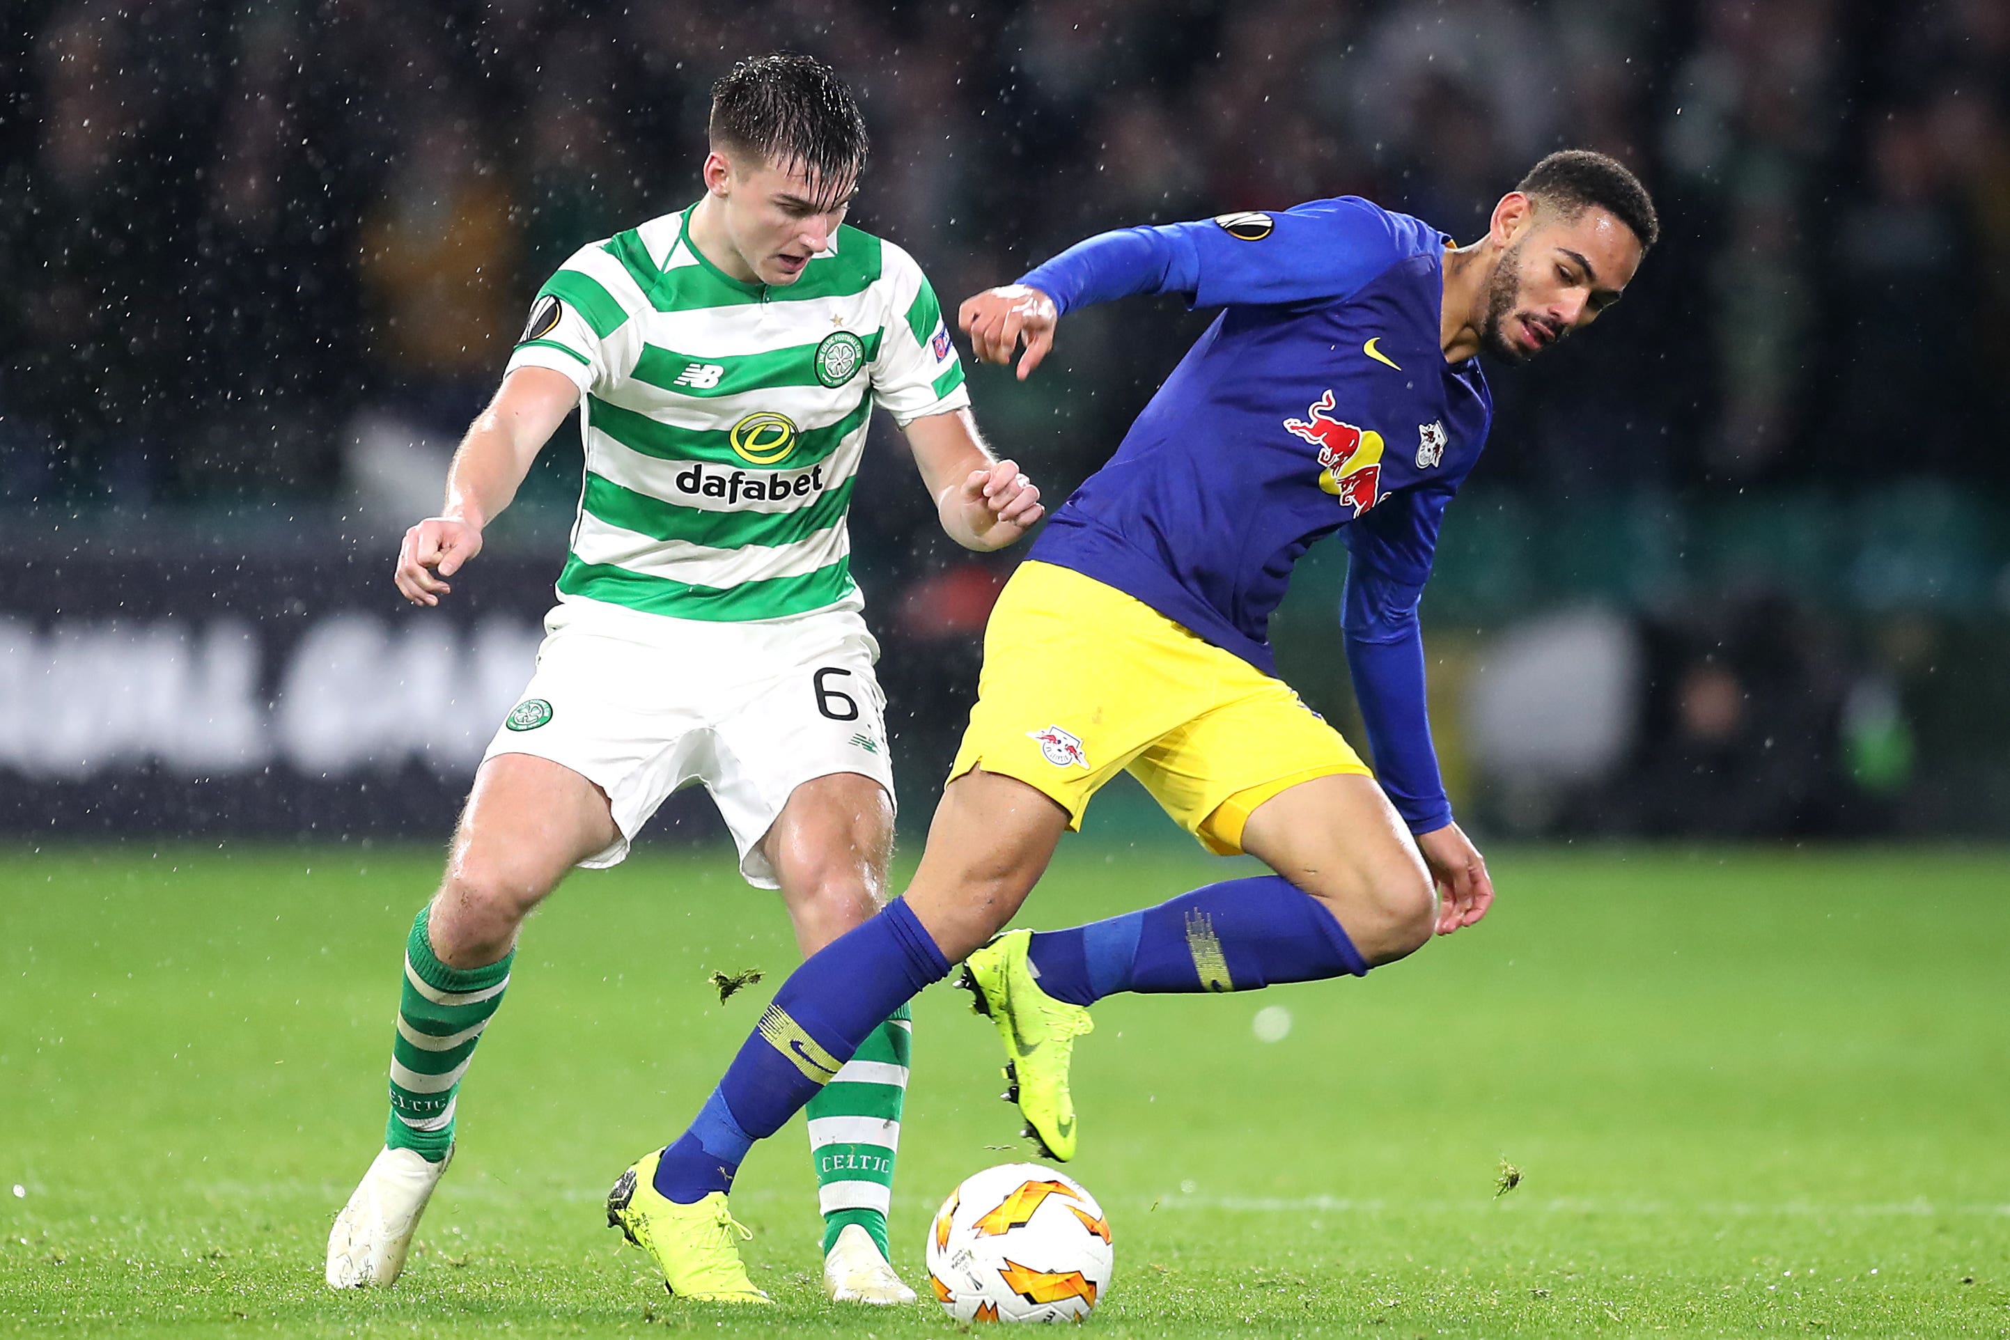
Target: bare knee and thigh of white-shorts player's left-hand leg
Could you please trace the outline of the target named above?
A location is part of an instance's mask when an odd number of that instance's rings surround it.
[[[599,786],[535,753],[496,753],[474,773],[444,890],[529,912],[567,870],[617,838]]]

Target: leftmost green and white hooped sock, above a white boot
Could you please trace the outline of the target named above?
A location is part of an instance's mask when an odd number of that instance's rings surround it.
[[[404,996],[398,1000],[398,1037],[390,1049],[390,1119],[384,1143],[416,1149],[438,1163],[454,1145],[454,1103],[460,1077],[474,1055],[488,1017],[509,986],[511,950],[486,968],[448,968],[432,956],[422,908],[404,944]]]

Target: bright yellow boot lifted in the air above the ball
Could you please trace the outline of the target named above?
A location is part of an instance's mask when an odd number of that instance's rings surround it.
[[[1075,1157],[1075,1101],[1067,1095],[1067,1065],[1075,1039],[1095,1029],[1079,1004],[1055,1000],[1039,988],[1025,950],[1031,930],[1007,930],[963,962],[959,986],[977,996],[1005,1043],[1005,1099],[1025,1115],[1025,1135],[1059,1163]]]

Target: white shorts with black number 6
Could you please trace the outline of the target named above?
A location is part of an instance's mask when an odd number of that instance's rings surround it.
[[[603,792],[621,838],[579,862],[619,864],[671,792],[701,781],[740,846],[740,874],[780,888],[760,852],[790,792],[856,771],[892,800],[878,643],[850,609],[766,623],[663,619],[599,601],[545,617],[537,673],[488,741]]]

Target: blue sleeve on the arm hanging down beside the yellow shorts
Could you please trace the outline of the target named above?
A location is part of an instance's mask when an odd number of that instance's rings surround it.
[[[1349,552],[1341,597],[1347,669],[1377,779],[1413,834],[1451,822],[1451,802],[1431,743],[1423,629],[1417,621],[1451,492],[1399,492],[1341,528]]]

